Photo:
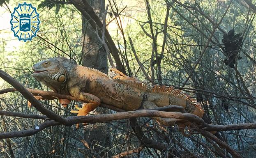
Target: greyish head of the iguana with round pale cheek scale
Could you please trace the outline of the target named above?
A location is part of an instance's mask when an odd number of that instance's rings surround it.
[[[65,57],[49,58],[32,66],[34,70],[32,76],[53,91],[61,92],[67,86],[68,74],[65,67],[70,64],[74,64],[74,62]]]

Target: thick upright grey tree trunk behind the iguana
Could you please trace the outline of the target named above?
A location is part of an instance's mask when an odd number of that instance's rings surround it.
[[[101,21],[103,20],[103,14],[105,11],[105,0],[87,0],[88,3],[92,6],[95,13],[99,16]],[[108,60],[106,50],[99,41],[95,30],[92,28],[88,20],[82,16],[82,27],[83,27],[83,48],[82,48],[82,65],[97,69],[103,73],[108,73]],[[106,109],[97,109],[95,113],[108,113]],[[107,124],[105,126],[108,126]],[[108,147],[107,144],[111,143],[111,139],[107,139],[109,136],[109,128],[104,128],[106,131],[101,131],[99,128],[84,129],[84,140],[88,142],[90,150],[88,153],[85,153],[85,158],[89,158],[93,152],[96,151],[97,156],[109,155],[108,152],[104,150],[101,151],[100,146]],[[101,129],[101,128],[100,128]],[[95,155],[95,156],[96,156]]]

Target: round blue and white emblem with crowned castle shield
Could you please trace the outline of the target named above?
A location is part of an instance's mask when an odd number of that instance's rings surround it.
[[[11,16],[11,30],[14,36],[18,37],[18,40],[24,42],[28,40],[31,41],[33,37],[37,36],[40,21],[39,14],[35,7],[26,2],[18,4],[18,7],[14,8],[14,12]]]

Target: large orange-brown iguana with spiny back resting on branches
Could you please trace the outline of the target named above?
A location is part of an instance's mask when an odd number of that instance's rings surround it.
[[[121,76],[111,79],[105,73],[79,66],[65,57],[43,60],[35,64],[32,69],[34,70],[32,76],[54,92],[69,94],[87,103],[82,108],[76,106],[78,111],[71,111],[78,113],[78,116],[88,114],[102,102],[127,111],[179,105],[187,112],[203,117],[204,110],[201,104],[173,87],[160,85],[150,87],[122,73]],[[178,119],[159,117],[154,119],[165,126],[171,126],[178,121]],[[183,122],[179,126],[185,127],[189,124]]]

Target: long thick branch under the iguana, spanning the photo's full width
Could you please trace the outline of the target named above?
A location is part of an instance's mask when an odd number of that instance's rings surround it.
[[[100,114],[100,115],[88,115],[80,117],[68,117],[67,120],[71,124],[78,123],[101,123],[106,121],[113,121],[119,119],[129,119],[136,117],[163,117],[163,118],[176,118],[176,119],[187,119],[196,124],[200,124],[204,130],[209,129],[210,131],[229,131],[229,130],[239,130],[239,129],[252,129],[256,128],[256,123],[250,124],[234,124],[234,125],[210,125],[206,124],[203,119],[194,114],[184,114],[180,112],[163,112],[155,110],[141,110],[141,111],[130,111],[130,112],[119,112],[114,114]],[[46,127],[60,125],[56,121],[47,121],[39,125],[39,129],[28,129],[25,131],[14,131],[7,133],[0,133],[0,138],[10,138],[10,137],[24,137],[28,135],[33,135],[42,131]],[[228,128],[232,126],[231,129]]]

